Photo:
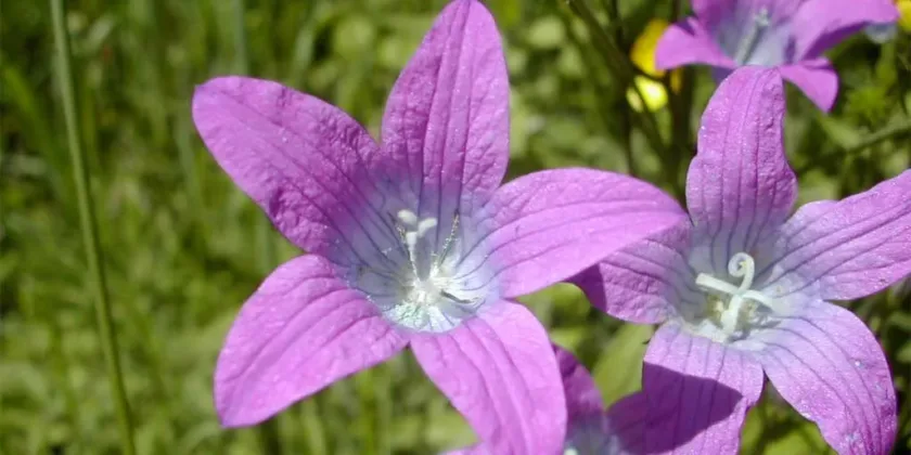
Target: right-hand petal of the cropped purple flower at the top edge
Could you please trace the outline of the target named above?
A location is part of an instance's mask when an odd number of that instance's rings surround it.
[[[821,56],[868,24],[894,23],[898,18],[898,9],[888,0],[806,1],[792,25],[795,61]]]

